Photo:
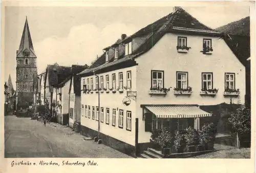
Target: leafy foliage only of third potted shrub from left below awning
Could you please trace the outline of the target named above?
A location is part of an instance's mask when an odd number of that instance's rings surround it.
[[[197,144],[199,144],[199,134],[198,134],[198,131],[196,129],[189,126],[186,129],[186,132],[187,133],[184,134],[184,138],[186,140],[187,145],[197,145]]]

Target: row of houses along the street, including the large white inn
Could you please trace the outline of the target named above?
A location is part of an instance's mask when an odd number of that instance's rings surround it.
[[[48,65],[37,102],[126,154],[146,150],[155,129],[200,129],[216,105],[245,103],[244,64],[223,33],[180,7],[103,52],[89,67]]]

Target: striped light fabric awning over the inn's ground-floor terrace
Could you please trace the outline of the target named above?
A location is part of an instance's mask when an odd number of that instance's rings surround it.
[[[211,116],[198,106],[145,106],[158,118],[196,118]]]

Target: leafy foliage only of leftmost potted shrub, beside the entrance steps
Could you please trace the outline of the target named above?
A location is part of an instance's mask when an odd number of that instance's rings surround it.
[[[163,129],[158,137],[155,138],[157,144],[162,148],[172,147],[173,137],[167,128]]]

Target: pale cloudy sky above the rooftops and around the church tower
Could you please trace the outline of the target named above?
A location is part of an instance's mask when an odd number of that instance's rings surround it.
[[[215,29],[249,16],[248,6],[182,7]],[[5,81],[15,87],[16,50],[26,20],[38,74],[47,64],[90,65],[121,34],[132,35],[173,12],[173,7],[5,7]]]

